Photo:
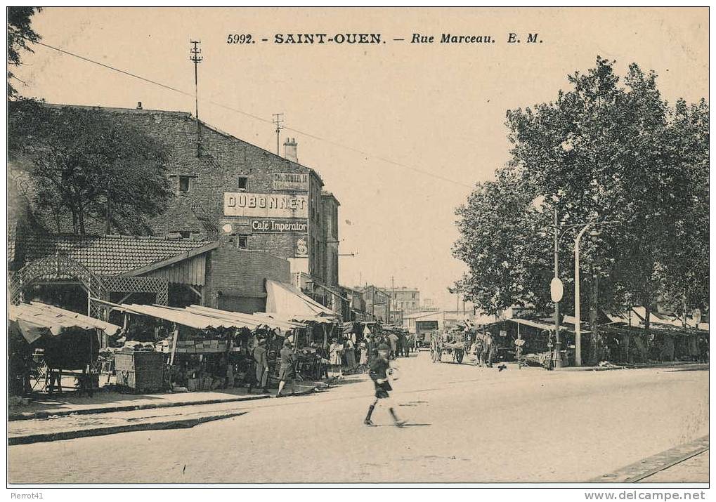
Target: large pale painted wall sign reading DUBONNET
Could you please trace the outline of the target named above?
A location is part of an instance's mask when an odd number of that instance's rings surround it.
[[[309,200],[307,195],[224,192],[224,215],[308,219]]]

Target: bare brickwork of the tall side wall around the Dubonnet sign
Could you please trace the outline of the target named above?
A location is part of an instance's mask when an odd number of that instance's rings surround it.
[[[54,105],[50,105],[54,106]],[[175,197],[163,214],[153,217],[148,225],[152,235],[164,236],[190,232],[192,237],[214,238],[248,235],[248,249],[266,250],[282,258],[296,256],[299,239],[309,249],[309,270],[315,277],[324,275],[326,244],[321,222],[321,190],[323,181],[313,169],[256,147],[218,129],[200,124],[202,155],[196,155],[196,122],[186,112],[150,109],[93,108],[110,114],[113,120],[142,129],[160,139],[169,148],[167,172]],[[274,172],[309,174],[309,190],[274,190]],[[179,191],[179,177],[190,177],[189,191]],[[223,214],[224,192],[239,192],[239,177],[248,177],[246,192],[308,195],[308,232],[296,234],[252,233],[250,218]],[[91,232],[103,232],[104,222],[87,222]],[[222,227],[231,225],[231,232]],[[144,235],[146,230],[127,224],[115,229],[120,233]]]

